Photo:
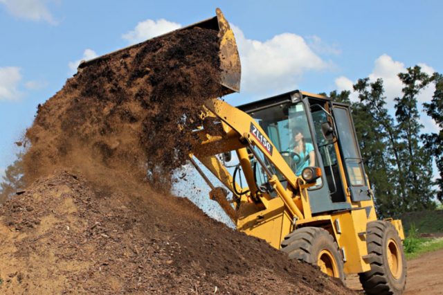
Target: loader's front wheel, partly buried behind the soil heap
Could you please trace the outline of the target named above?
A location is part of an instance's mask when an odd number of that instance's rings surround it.
[[[303,227],[289,233],[282,242],[281,250],[288,253],[289,259],[298,259],[329,276],[345,279],[343,258],[332,235],[318,227]]]

